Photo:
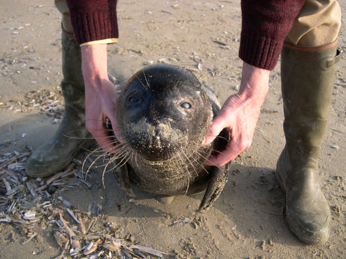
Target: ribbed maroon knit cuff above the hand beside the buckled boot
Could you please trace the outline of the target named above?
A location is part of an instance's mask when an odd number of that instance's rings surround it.
[[[282,41],[249,32],[240,37],[239,57],[244,62],[266,70],[273,70],[279,59]]]

